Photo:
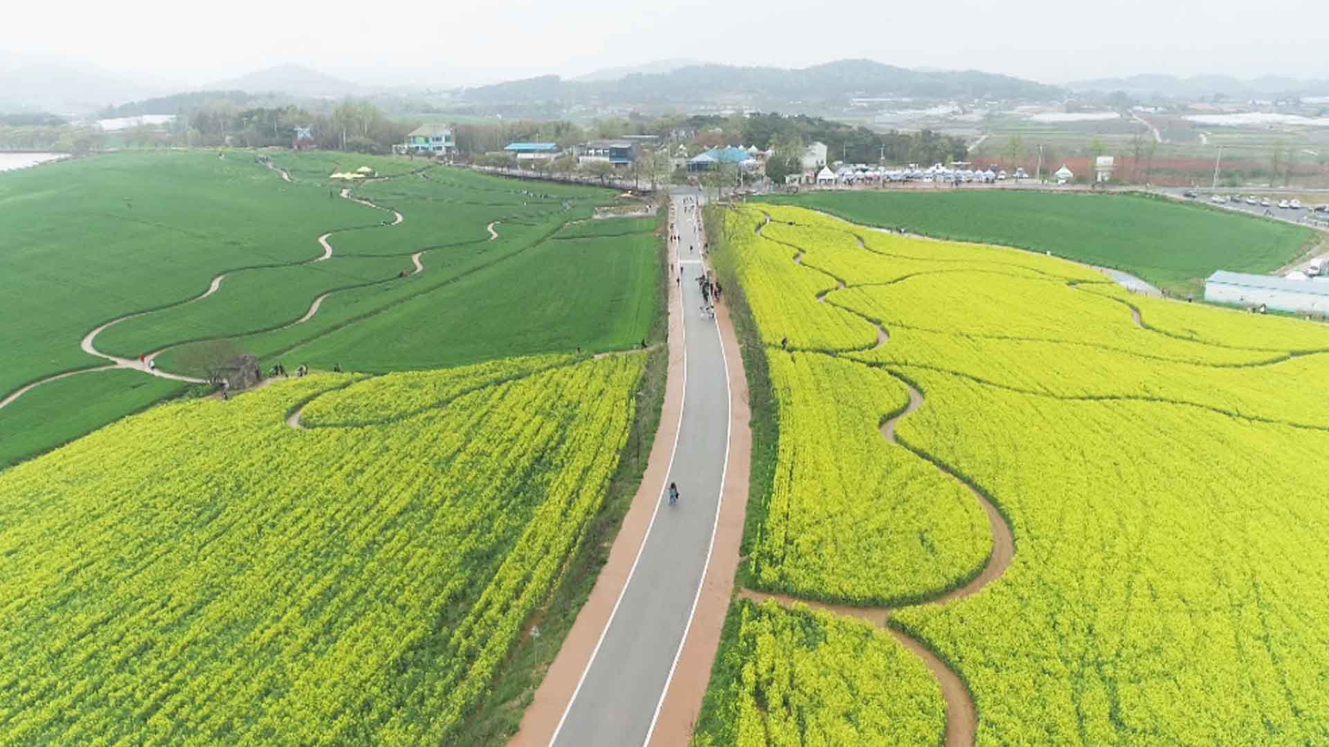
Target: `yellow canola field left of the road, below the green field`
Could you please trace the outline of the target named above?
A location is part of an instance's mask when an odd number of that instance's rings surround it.
[[[291,428],[355,380],[315,375],[0,473],[0,743],[447,743],[599,509],[643,364]]]

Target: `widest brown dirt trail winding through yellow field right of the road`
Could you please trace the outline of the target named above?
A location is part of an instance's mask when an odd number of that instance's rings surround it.
[[[762,229],[766,227],[766,225],[768,225],[769,222],[771,217],[766,215],[766,222],[763,222],[760,226],[756,227],[756,234],[762,235]],[[799,250],[797,254],[793,257],[793,262],[801,266],[803,255],[804,255],[803,250]],[[836,286],[837,287],[835,290],[841,290],[845,287],[845,283],[837,278]],[[825,296],[829,292],[832,291],[823,291],[817,294],[816,300],[824,302]],[[872,319],[867,319],[861,315],[859,316],[877,328],[877,343],[874,347],[880,348],[881,346],[886,344],[890,340],[890,334],[881,323],[874,322]],[[890,374],[897,381],[904,384],[904,387],[909,392],[909,404],[905,405],[905,408],[901,412],[896,413],[894,416],[881,423],[881,437],[885,439],[888,444],[908,449],[910,453],[918,456],[920,459],[929,461],[933,467],[936,467],[941,472],[950,476],[950,479],[964,485],[965,489],[969,490],[969,493],[974,497],[974,500],[978,501],[978,505],[983,508],[983,513],[987,516],[987,528],[993,538],[993,548],[990,554],[987,556],[987,561],[983,564],[978,574],[974,576],[974,578],[971,578],[968,584],[964,584],[957,589],[941,593],[937,597],[924,603],[942,605],[954,599],[961,599],[964,597],[977,594],[978,591],[985,589],[989,584],[999,578],[1006,572],[1006,569],[1010,568],[1011,560],[1015,557],[1014,534],[1011,533],[1010,525],[1006,522],[1006,517],[1002,516],[999,510],[997,510],[997,506],[993,505],[993,502],[987,498],[987,496],[985,496],[978,488],[975,488],[971,482],[961,477],[956,471],[942,464],[940,460],[936,460],[929,455],[916,448],[912,448],[908,444],[904,444],[898,440],[898,437],[896,436],[896,427],[900,424],[902,419],[917,412],[918,408],[922,407],[924,393],[904,377],[896,376],[893,372],[889,371],[888,374]],[[922,661],[922,663],[932,673],[933,678],[936,678],[937,685],[941,687],[941,695],[946,702],[946,739],[945,739],[946,747],[970,747],[971,744],[974,744],[978,732],[978,710],[974,707],[974,700],[969,694],[969,689],[965,687],[965,683],[960,678],[960,674],[952,670],[949,666],[946,666],[946,663],[941,661],[941,658],[937,657],[937,654],[933,653],[926,645],[913,638],[904,630],[889,625],[890,617],[894,614],[894,611],[902,607],[856,607],[849,605],[832,605],[809,599],[799,599],[796,597],[791,597],[787,594],[769,594],[763,591],[754,591],[751,589],[739,590],[739,595],[755,602],[775,601],[785,607],[792,607],[795,605],[803,603],[813,609],[861,619],[889,631],[896,641],[898,641],[905,649],[913,651],[914,655],[917,655]]]

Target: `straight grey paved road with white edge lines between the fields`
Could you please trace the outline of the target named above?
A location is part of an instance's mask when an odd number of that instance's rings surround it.
[[[698,194],[680,193],[675,203]],[[646,743],[708,562],[728,451],[730,392],[719,332],[700,312],[702,246],[692,218],[680,205],[674,282],[682,268],[686,383],[670,480],[682,497],[674,506],[661,500],[618,606],[554,732],[552,744],[560,747]]]

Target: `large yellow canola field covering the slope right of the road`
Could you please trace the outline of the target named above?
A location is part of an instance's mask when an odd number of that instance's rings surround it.
[[[763,210],[785,226],[759,235]],[[1329,328],[1131,295],[1029,253],[847,233],[848,223],[800,209],[748,206],[726,219],[730,241],[718,253],[731,253],[747,298],[750,286],[787,296],[751,303],[779,445],[748,582],[849,599],[849,576],[831,558],[861,548],[888,560],[861,561],[874,570],[855,593],[886,599],[900,578],[971,561],[949,564],[914,552],[909,532],[884,532],[917,525],[964,537],[978,516],[968,504],[920,512],[936,489],[897,481],[908,452],[865,439],[861,423],[901,401],[892,380],[910,381],[925,400],[898,439],[990,496],[1015,540],[1010,568],[977,594],[892,618],[964,678],[978,744],[1329,742],[1329,502],[1316,468],[1329,449],[1329,405],[1317,393],[1329,355],[1314,352],[1329,351]],[[789,259],[799,251],[808,267]],[[882,266],[856,270],[870,262]],[[799,291],[799,274],[824,288],[825,272],[847,287],[821,302]],[[849,319],[881,322],[890,339],[837,348]],[[772,344],[787,328],[799,330],[800,348],[832,355],[791,356]],[[864,465],[877,467],[847,477]],[[804,510],[824,525],[780,505],[812,506]],[[872,505],[889,513],[853,513]],[[853,506],[839,509],[852,520],[828,516],[836,506]],[[776,565],[776,538],[789,573],[760,565]],[[743,650],[751,662],[754,649]],[[758,671],[791,666],[793,650],[767,654],[783,663]],[[821,666],[852,677],[859,663]],[[897,686],[917,690],[908,677]],[[762,693],[730,690],[712,683],[712,712],[739,714]],[[865,698],[851,712],[878,706]],[[928,734],[920,742],[941,739]],[[766,739],[754,743],[775,743]]]

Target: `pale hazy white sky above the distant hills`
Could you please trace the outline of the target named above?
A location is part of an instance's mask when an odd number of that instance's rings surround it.
[[[868,57],[1054,84],[1142,72],[1329,77],[1326,5],[65,0],[7,4],[0,52],[74,58],[189,84],[299,62],[359,82],[451,88],[674,57],[779,66]]]

